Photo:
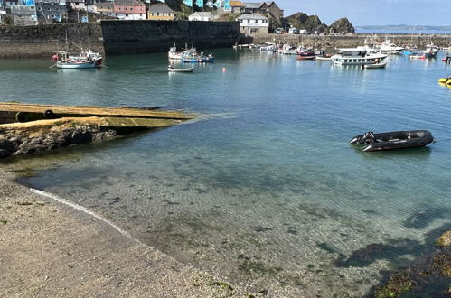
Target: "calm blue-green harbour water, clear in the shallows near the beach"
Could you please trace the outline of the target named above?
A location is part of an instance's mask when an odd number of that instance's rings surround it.
[[[166,54],[108,57],[102,70],[0,61],[2,101],[202,114],[2,166],[33,171],[21,181],[249,293],[362,296],[449,229],[451,142],[373,154],[347,144],[369,130],[450,138],[451,89],[437,84],[449,66],[399,56],[361,70],[213,53],[193,74],[167,73]]]

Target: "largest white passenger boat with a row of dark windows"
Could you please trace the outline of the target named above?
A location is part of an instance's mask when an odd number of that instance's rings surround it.
[[[388,54],[378,53],[366,48],[346,48],[339,49],[339,52],[332,56],[334,65],[362,66],[374,64],[387,58]]]

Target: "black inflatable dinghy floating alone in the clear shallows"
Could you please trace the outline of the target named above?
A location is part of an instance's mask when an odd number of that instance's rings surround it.
[[[404,149],[426,146],[434,142],[428,130],[403,130],[374,134],[355,135],[348,144],[364,144],[363,152]]]

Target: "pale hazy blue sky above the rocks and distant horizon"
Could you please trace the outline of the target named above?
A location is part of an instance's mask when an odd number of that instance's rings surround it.
[[[296,12],[316,14],[326,24],[346,16],[353,25],[451,25],[448,0],[276,0],[276,3],[285,9],[286,16]]]

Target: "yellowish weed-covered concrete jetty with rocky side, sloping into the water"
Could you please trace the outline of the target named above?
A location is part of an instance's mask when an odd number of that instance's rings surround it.
[[[0,158],[174,126],[193,114],[139,107],[0,103]]]

